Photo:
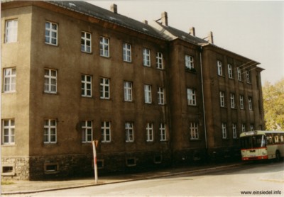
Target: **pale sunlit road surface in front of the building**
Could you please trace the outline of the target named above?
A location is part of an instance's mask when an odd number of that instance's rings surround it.
[[[218,171],[22,196],[248,196],[241,192],[254,194],[249,196],[284,196],[284,163],[245,164]]]

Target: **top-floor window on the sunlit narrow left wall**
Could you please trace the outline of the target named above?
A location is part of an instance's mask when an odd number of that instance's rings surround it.
[[[16,43],[18,39],[18,20],[6,21],[5,43]]]

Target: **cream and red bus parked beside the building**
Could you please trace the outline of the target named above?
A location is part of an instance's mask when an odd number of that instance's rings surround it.
[[[284,157],[284,131],[254,130],[240,134],[243,161]]]

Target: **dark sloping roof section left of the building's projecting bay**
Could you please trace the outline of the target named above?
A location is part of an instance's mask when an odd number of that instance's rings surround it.
[[[151,26],[140,21],[136,21],[133,18],[123,16],[119,13],[114,13],[107,9],[102,9],[99,6],[89,4],[85,1],[45,1],[49,4],[54,4],[65,9],[70,9],[71,11],[76,11],[87,16],[92,16],[98,18],[102,21],[107,21],[109,23],[114,23],[118,26],[129,28],[131,30],[138,31],[147,35],[151,35],[155,38],[160,38],[164,40],[163,36],[157,33]]]

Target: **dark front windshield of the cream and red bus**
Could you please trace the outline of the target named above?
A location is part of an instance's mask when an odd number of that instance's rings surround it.
[[[266,147],[265,135],[252,135],[252,136],[241,137],[242,149],[258,148],[258,147]]]

